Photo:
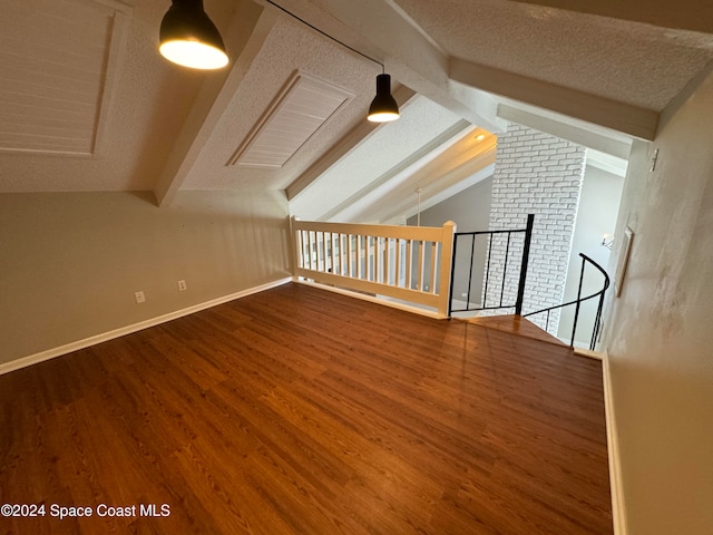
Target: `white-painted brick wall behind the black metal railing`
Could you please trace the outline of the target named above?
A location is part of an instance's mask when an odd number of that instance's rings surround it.
[[[524,314],[561,303],[585,157],[584,147],[520,125],[511,124],[498,137],[490,230],[524,228],[527,214],[535,214]],[[488,305],[500,300],[504,242],[505,237],[494,241]],[[516,300],[521,254],[517,239],[510,244],[505,303]],[[531,320],[545,327],[541,315]],[[550,315],[548,331],[556,333],[558,322],[558,313]]]

